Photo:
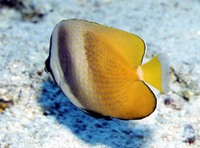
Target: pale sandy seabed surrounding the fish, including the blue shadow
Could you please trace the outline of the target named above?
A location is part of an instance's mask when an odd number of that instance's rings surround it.
[[[199,0],[0,0],[0,148],[200,147]],[[44,71],[54,26],[86,19],[135,33],[145,61],[166,52],[170,89],[142,120],[95,119]]]

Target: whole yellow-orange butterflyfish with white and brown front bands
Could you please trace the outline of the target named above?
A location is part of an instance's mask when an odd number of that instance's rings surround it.
[[[142,64],[145,49],[135,34],[86,20],[64,20],[52,32],[46,70],[84,112],[141,119],[156,108],[149,85],[169,91],[167,54]]]

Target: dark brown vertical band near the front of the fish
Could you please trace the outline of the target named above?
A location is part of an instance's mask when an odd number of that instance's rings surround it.
[[[58,56],[61,69],[64,75],[64,81],[68,84],[71,93],[75,97],[79,97],[78,83],[75,78],[75,72],[73,69],[73,62],[70,50],[70,34],[64,27],[60,27],[58,30]]]

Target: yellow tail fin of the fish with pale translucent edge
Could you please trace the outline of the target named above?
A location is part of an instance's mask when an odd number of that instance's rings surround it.
[[[155,56],[149,62],[138,68],[141,80],[155,87],[161,92],[169,91],[169,59],[167,54]]]

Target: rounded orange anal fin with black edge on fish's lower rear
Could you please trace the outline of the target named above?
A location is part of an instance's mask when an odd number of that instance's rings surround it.
[[[150,115],[156,108],[154,93],[142,81],[124,85],[116,92],[112,92],[110,89],[112,90],[112,85],[96,90],[104,97],[95,104],[95,109],[98,109],[96,111],[104,116],[127,120],[141,119]]]

